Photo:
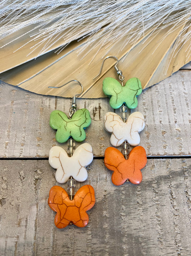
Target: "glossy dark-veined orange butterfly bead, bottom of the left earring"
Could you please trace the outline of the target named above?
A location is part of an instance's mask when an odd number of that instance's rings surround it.
[[[65,228],[72,221],[78,227],[85,227],[89,217],[87,210],[95,204],[94,188],[84,185],[70,200],[65,189],[54,186],[49,192],[48,205],[57,212],[54,223],[57,228]]]

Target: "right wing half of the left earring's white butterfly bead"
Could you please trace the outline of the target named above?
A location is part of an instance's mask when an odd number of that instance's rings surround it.
[[[89,143],[83,143],[73,153],[72,158],[72,177],[77,181],[85,181],[87,179],[86,166],[93,160],[92,147]]]

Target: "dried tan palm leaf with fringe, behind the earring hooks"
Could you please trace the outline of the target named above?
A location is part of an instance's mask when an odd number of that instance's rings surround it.
[[[143,88],[191,60],[191,0],[61,4],[47,0],[33,4],[8,0],[5,4],[3,0],[0,72],[10,70],[1,73],[1,80],[35,93],[70,97],[70,86],[65,90],[47,86],[75,78],[85,88],[83,97],[98,98],[105,96],[100,78],[116,77],[109,70],[113,60],[108,60],[99,79],[92,80],[101,58],[108,54],[121,59],[119,68],[126,80],[139,77]],[[54,54],[55,48],[59,54]],[[77,85],[73,88],[78,90]]]

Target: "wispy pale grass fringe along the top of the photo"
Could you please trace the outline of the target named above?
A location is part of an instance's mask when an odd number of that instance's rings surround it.
[[[122,38],[120,50],[129,43],[136,44],[145,34],[157,34],[169,26],[171,32],[180,25],[182,33],[189,31],[181,38],[182,44],[191,36],[191,0],[1,0],[0,47],[18,39],[15,32],[23,30],[30,31],[27,44],[40,39],[31,49],[38,49],[38,55],[52,50],[60,39],[63,44],[57,53],[84,37],[88,40],[82,51],[87,47],[102,48],[109,42],[108,52]],[[10,36],[13,39],[3,45],[1,39]]]

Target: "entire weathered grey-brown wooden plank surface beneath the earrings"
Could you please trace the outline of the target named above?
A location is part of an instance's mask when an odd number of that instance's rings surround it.
[[[85,228],[63,230],[54,225],[55,212],[47,204],[57,184],[48,154],[53,145],[67,146],[55,141],[49,115],[54,109],[68,113],[71,100],[1,82],[0,255],[190,256],[190,67],[139,96],[134,111],[145,118],[140,145],[148,157],[139,185],[113,185],[103,163],[110,146],[103,127],[105,113],[113,111],[109,100],[77,99],[78,108],[86,107],[92,117],[85,142],[95,157],[88,179],[77,188],[91,184],[96,203]]]

